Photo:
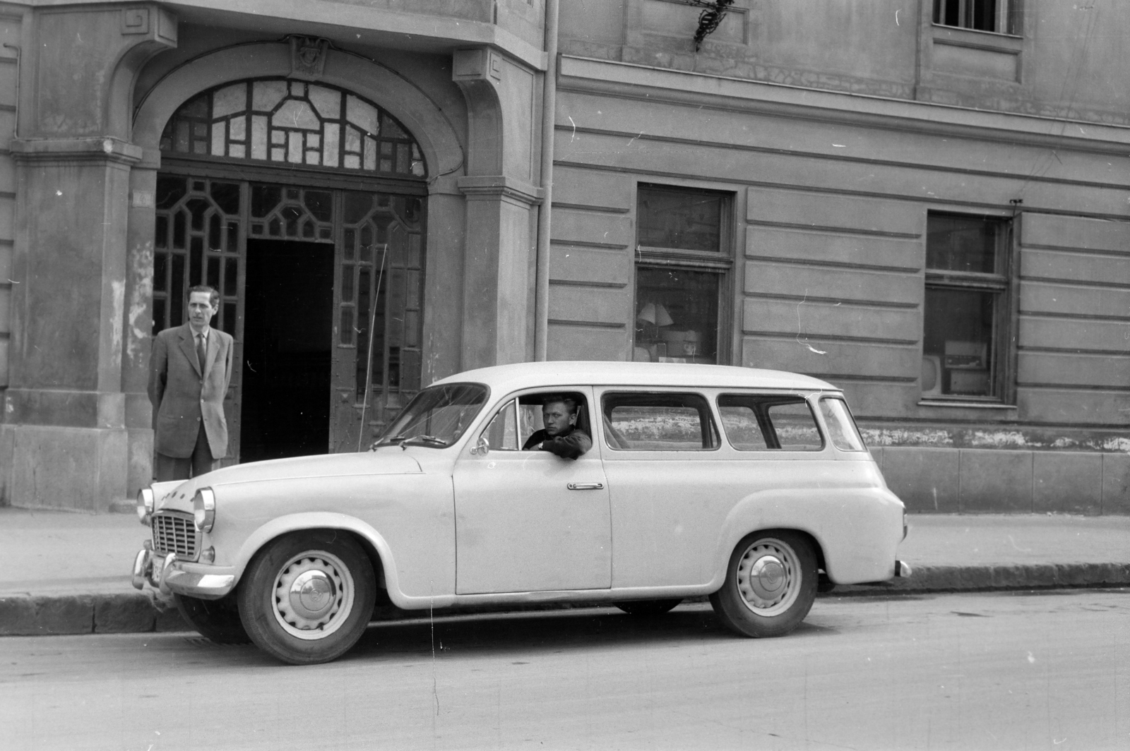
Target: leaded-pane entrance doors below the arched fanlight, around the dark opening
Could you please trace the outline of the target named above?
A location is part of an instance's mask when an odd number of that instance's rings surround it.
[[[261,349],[259,342],[245,341],[246,315],[262,313],[245,309],[249,239],[257,243],[258,252],[264,242],[285,244],[277,246],[279,264],[289,265],[272,269],[276,282],[280,274],[302,281],[303,252],[318,255],[308,257],[310,268],[323,257],[319,247],[333,254],[334,313],[327,334],[331,341],[324,342],[332,352],[330,387],[324,395],[330,425],[328,445],[320,451],[348,452],[367,446],[420,386],[423,237],[424,202],[417,197],[158,176],[154,333],[185,321],[189,287],[209,283],[220,291],[220,311],[212,324],[235,338],[235,367],[225,402],[231,434],[226,463],[240,459],[244,418],[252,419],[268,440],[285,433],[280,410],[288,407],[288,400],[282,394],[287,383],[294,382],[297,367],[289,363],[284,368],[269,368],[267,381],[257,373],[252,378],[255,393],[243,393],[249,383],[244,368],[250,372],[254,367],[245,361],[246,352]],[[299,245],[306,250],[299,252]],[[253,305],[296,306],[301,311],[303,303],[267,299],[270,302]],[[280,394],[275,407],[263,407],[263,395],[273,392]],[[246,403],[245,396],[250,399]],[[243,414],[244,407],[255,414]],[[264,416],[280,420],[280,428],[264,429]],[[270,451],[257,445],[255,455],[267,456]],[[286,447],[273,451],[287,455]]]

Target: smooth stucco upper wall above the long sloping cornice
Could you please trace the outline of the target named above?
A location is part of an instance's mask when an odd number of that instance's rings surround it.
[[[1122,0],[1024,0],[1016,34],[935,26],[935,0],[736,0],[694,49],[679,0],[568,0],[566,54],[967,107],[1130,123]]]

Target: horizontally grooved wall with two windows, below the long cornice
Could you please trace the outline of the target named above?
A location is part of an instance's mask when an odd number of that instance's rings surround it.
[[[562,71],[551,358],[629,359],[638,183],[721,190],[734,207],[731,363],[841,385],[872,446],[1125,456],[1122,130],[1045,146],[1024,132],[1044,126],[1029,119],[931,105],[876,119],[886,105],[841,95],[786,111],[808,95],[570,58]],[[951,132],[931,124],[942,112]],[[920,403],[930,210],[1014,222],[1015,393],[1003,405]]]

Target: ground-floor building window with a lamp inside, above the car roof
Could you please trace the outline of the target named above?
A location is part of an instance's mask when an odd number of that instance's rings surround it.
[[[728,193],[640,185],[632,359],[724,359],[731,207]]]

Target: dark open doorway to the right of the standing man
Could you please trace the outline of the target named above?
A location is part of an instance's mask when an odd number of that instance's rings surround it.
[[[247,241],[240,461],[330,444],[333,246]]]

